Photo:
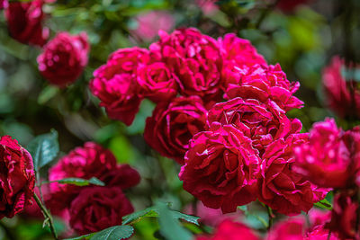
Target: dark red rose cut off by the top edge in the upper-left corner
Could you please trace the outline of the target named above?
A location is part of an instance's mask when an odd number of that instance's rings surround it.
[[[10,36],[25,44],[43,46],[49,38],[49,29],[42,27],[42,4],[42,0],[10,3],[5,9]]]

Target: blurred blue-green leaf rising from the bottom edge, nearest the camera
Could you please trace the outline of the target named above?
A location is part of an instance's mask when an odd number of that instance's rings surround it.
[[[190,240],[192,234],[181,226],[178,219],[174,218],[173,211],[168,209],[165,203],[158,202],[158,223],[160,234],[168,240]]]

